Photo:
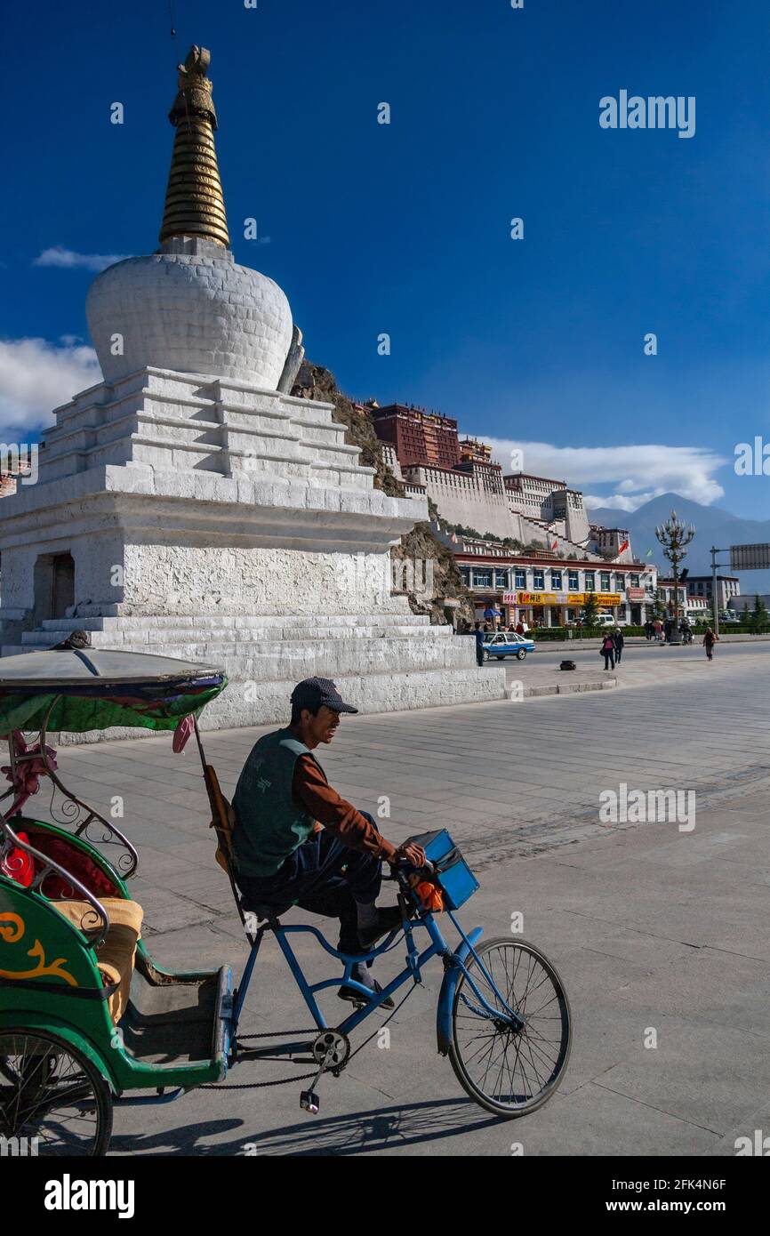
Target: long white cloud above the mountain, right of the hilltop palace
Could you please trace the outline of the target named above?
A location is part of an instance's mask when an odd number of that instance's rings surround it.
[[[606,486],[606,494],[586,493],[586,506],[629,512],[669,492],[708,507],[724,496],[713,473],[730,462],[701,446],[554,446],[501,438],[489,441],[503,471],[510,470],[512,451],[522,451],[524,472],[566,481],[575,489]]]

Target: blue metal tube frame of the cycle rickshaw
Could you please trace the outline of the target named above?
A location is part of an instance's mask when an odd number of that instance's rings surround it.
[[[449,944],[446,943],[444,936],[439,929],[439,925],[435,921],[434,913],[430,911],[423,911],[417,918],[408,920],[403,925],[403,931],[407,941],[407,964],[404,965],[403,970],[400,970],[399,974],[397,974],[396,978],[392,979],[391,983],[388,983],[388,985],[383,988],[382,991],[379,991],[374,996],[372,996],[371,989],[366,988],[361,983],[357,983],[352,978],[352,967],[356,962],[358,963],[371,962],[376,957],[379,957],[383,953],[389,952],[393,948],[394,942],[402,928],[391,932],[387,939],[383,942],[383,944],[379,946],[379,948],[372,949],[370,953],[366,953],[365,955],[351,955],[349,953],[341,953],[339,949],[332,948],[329,941],[321,934],[321,932],[316,927],[311,927],[308,923],[297,923],[297,925],[292,923],[290,926],[286,927],[278,918],[269,918],[267,923],[264,923],[258,929],[253,939],[252,949],[248,955],[246,968],[243,970],[243,976],[234,1001],[232,1021],[231,1021],[232,1042],[237,1044],[237,1023],[240,1020],[243,1004],[246,1001],[246,996],[251,984],[251,978],[253,974],[255,963],[266,931],[272,931],[276,939],[278,941],[281,952],[283,953],[283,955],[288,962],[289,969],[294,975],[294,979],[302,993],[305,1005],[308,1006],[310,1016],[313,1017],[313,1021],[318,1026],[319,1031],[328,1030],[329,1027],[326,1025],[326,1020],[324,1018],[318,1006],[315,999],[316,993],[323,991],[328,988],[347,986],[347,988],[353,988],[353,990],[361,991],[361,994],[366,997],[367,1002],[365,1005],[362,1005],[349,1017],[346,1017],[345,1021],[341,1022],[339,1026],[334,1027],[335,1030],[341,1031],[344,1035],[350,1035],[351,1031],[356,1030],[357,1026],[360,1026],[363,1021],[366,1021],[367,1017],[370,1017],[377,1009],[379,1009],[382,1004],[396,991],[398,991],[399,988],[404,985],[404,983],[408,983],[409,979],[412,979],[412,981],[415,985],[418,983],[421,983],[421,968],[433,957],[444,958],[444,964],[447,969],[454,967],[457,971],[457,975],[459,974],[465,975],[473,995],[481,1004],[483,1014],[486,1016],[494,1020],[502,1018],[509,1021],[512,1030],[519,1031],[524,1025],[523,1018],[519,1016],[518,1012],[515,1012],[515,1010],[509,1007],[506,997],[498,990],[497,984],[492,979],[492,975],[484,967],[483,962],[481,960],[478,953],[473,947],[475,942],[481,936],[481,928],[477,927],[470,934],[466,934],[466,932],[462,929],[462,927],[455,918],[455,915],[451,911],[446,911],[446,913],[461,938],[462,943],[460,950],[452,952],[452,949],[449,947]],[[424,948],[421,952],[418,949],[414,942],[413,928],[415,926],[425,927],[430,937],[429,946]],[[345,970],[341,978],[324,979],[320,983],[313,983],[313,984],[308,983],[289,941],[290,934],[299,934],[302,932],[304,932],[305,934],[314,936],[326,953],[329,953],[331,957],[339,958],[341,962],[345,963]],[[492,1005],[489,1005],[489,1002],[484,997],[483,993],[480,991],[473,979],[473,975],[470,973],[467,965],[465,964],[465,958],[468,954],[473,958],[481,973],[483,974],[486,981],[489,984],[489,988],[494,993],[496,997],[501,1001],[502,1009],[492,1007]],[[308,1051],[310,1047],[311,1044],[308,1043],[307,1041],[302,1042],[294,1041],[289,1043],[273,1043],[266,1047],[257,1047],[257,1048],[251,1048],[251,1047],[239,1048],[236,1058],[240,1057],[241,1059],[258,1059],[266,1057],[276,1058],[281,1056],[293,1056],[295,1052]]]

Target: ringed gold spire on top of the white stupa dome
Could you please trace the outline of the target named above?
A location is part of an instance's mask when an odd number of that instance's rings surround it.
[[[168,173],[161,245],[172,236],[200,236],[230,245],[222,187],[216,164],[216,112],[206,69],[211,53],[190,47],[179,64],[179,93],[168,119],[177,130]]]

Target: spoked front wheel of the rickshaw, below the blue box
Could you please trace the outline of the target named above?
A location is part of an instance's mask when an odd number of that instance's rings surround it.
[[[466,1091],[497,1116],[524,1116],[548,1103],[570,1058],[566,991],[549,959],[523,939],[491,939],[476,949],[509,1007],[524,1018],[515,1032],[496,1021],[460,975],[452,1005],[449,1058]],[[492,1009],[502,1005],[476,958],[468,974]]]

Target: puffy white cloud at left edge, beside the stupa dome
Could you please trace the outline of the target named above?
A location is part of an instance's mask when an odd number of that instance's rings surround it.
[[[93,347],[0,339],[0,430],[51,425],[52,408],[100,381]]]

